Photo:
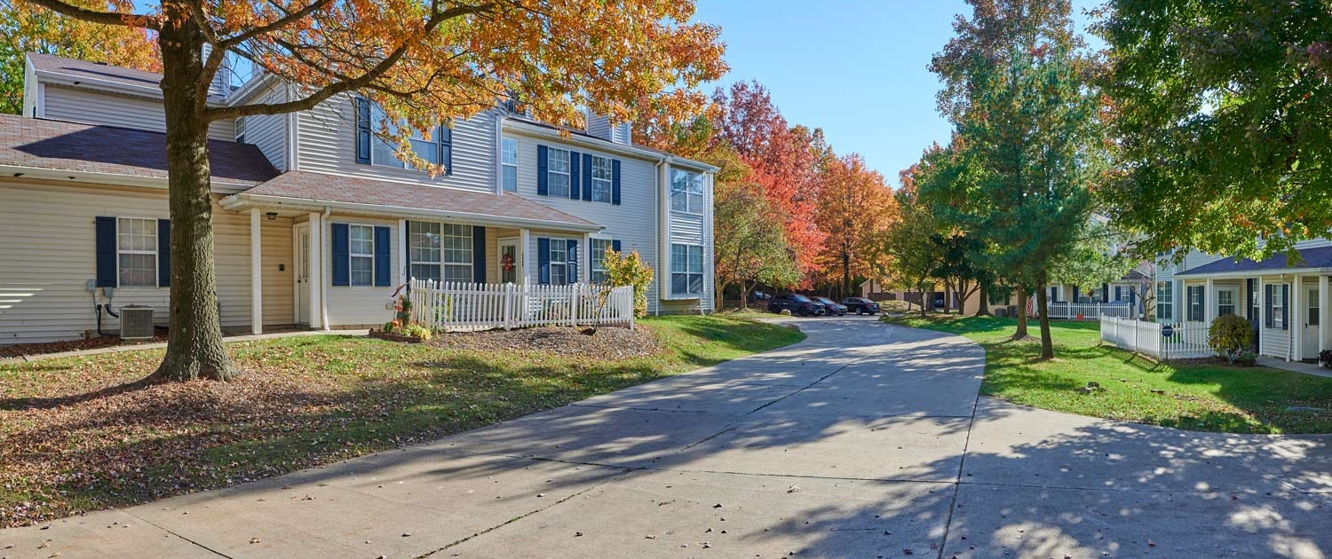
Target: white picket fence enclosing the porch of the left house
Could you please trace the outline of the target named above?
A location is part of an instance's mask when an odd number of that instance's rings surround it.
[[[525,326],[627,325],[634,287],[456,283],[412,280],[412,319],[434,331]]]

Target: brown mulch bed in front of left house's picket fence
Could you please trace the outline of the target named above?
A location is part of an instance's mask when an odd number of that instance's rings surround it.
[[[547,351],[565,357],[633,358],[661,351],[647,329],[602,326],[595,334],[569,326],[529,327],[436,334],[430,343],[448,349],[480,351]]]

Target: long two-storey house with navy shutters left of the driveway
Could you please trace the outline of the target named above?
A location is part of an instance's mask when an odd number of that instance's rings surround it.
[[[96,305],[166,321],[160,76],[29,55],[23,116],[0,116],[0,343],[119,329]],[[210,102],[290,98],[270,77]],[[561,134],[502,108],[413,142],[429,177],[370,130],[356,96],[210,130],[222,329],[365,327],[409,278],[562,285],[602,278],[606,249],[657,272],[651,313],[713,307],[715,168],[631,142],[591,116]],[[511,266],[507,265],[511,262]]]

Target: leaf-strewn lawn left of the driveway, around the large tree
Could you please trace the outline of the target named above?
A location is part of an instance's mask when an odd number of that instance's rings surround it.
[[[4,365],[0,527],[430,441],[805,338],[719,315],[639,327],[658,351],[570,357],[336,335],[240,342],[228,347],[245,375],[226,383],[124,386],[163,350]],[[617,335],[607,330],[595,335]]]

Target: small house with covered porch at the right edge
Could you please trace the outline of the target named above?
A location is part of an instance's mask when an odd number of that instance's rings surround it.
[[[1189,252],[1162,266],[1156,282],[1159,322],[1209,325],[1236,314],[1253,325],[1255,349],[1288,361],[1316,359],[1332,349],[1328,330],[1328,274],[1332,240],[1296,244],[1296,264],[1287,254],[1263,261]]]

